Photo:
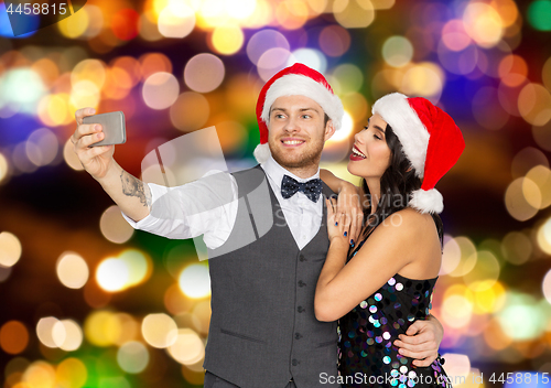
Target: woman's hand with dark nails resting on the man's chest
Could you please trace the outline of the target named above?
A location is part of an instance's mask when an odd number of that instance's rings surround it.
[[[342,223],[349,227],[348,241],[354,247],[358,240],[364,223],[364,209],[361,207],[359,187],[343,181],[338,192],[336,213],[342,216]]]

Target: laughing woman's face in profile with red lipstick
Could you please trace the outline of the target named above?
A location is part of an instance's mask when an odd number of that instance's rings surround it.
[[[375,114],[367,127],[354,136],[354,146],[348,162],[348,172],[356,176],[379,179],[390,165],[390,148],[385,138],[387,122]]]

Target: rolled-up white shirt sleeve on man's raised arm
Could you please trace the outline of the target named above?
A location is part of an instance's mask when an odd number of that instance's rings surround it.
[[[237,182],[231,174],[209,171],[202,179],[175,187],[148,183],[150,214],[136,222],[122,213],[134,229],[171,239],[203,235],[205,245],[224,245],[237,217]]]

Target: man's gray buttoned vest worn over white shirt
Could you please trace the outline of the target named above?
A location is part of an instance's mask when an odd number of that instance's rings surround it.
[[[284,388],[291,377],[298,388],[339,387],[320,382],[321,375],[337,376],[336,322],[314,314],[329,246],[325,204],[318,233],[300,250],[263,170],[234,176],[236,224],[208,251],[213,315],[204,368],[244,388]],[[324,184],[323,194],[333,192]]]

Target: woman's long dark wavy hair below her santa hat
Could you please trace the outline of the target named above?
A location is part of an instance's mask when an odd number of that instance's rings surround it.
[[[408,206],[411,193],[421,188],[421,180],[415,176],[415,169],[411,165],[403,153],[402,143],[396,136],[392,128],[387,125],[385,130],[387,146],[390,149],[390,165],[380,179],[380,198],[377,209],[371,214],[371,206],[364,206],[364,230],[363,236],[367,236],[377,225],[381,224],[391,214]],[[361,180],[364,193],[370,198],[369,187],[366,180]],[[436,213],[432,214],[439,231],[441,246],[443,245],[444,226]]]

